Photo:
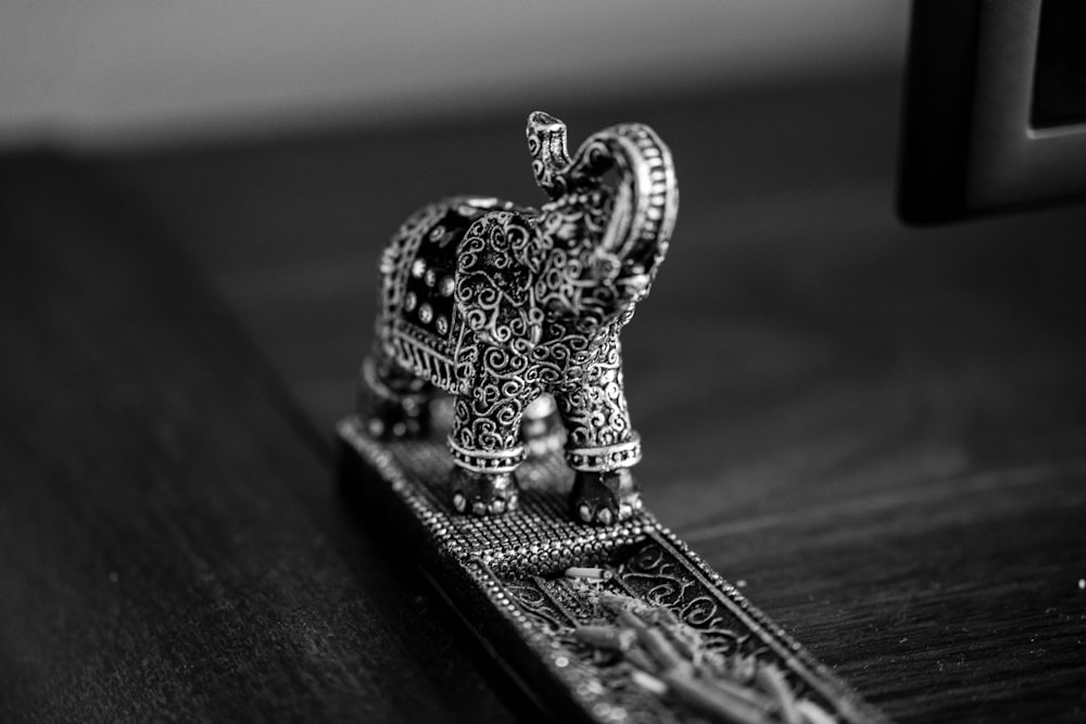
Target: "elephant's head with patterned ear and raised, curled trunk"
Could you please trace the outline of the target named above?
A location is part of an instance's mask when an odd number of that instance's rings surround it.
[[[671,152],[647,126],[602,130],[570,158],[565,124],[535,112],[528,148],[551,201],[472,225],[456,274],[466,326],[517,354],[627,315],[648,294],[679,206]]]

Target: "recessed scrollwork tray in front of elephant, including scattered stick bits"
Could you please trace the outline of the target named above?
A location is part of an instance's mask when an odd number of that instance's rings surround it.
[[[834,702],[810,686],[793,657],[766,646],[718,590],[658,542],[628,550],[613,567],[514,580],[504,590],[561,643],[582,678],[613,691],[623,719],[838,721]]]

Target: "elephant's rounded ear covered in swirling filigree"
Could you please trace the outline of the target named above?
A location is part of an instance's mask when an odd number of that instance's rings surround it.
[[[457,247],[456,308],[464,323],[489,344],[528,354],[543,333],[533,280],[541,255],[528,223],[495,212],[468,228]]]

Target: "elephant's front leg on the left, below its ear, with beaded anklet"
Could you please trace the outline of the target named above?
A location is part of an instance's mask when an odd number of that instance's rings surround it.
[[[492,516],[517,507],[516,469],[525,459],[520,421],[530,398],[527,392],[497,392],[484,385],[456,398],[449,449],[456,463],[451,487],[458,512]]]

